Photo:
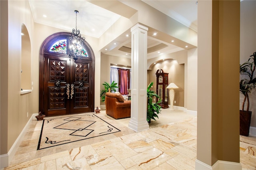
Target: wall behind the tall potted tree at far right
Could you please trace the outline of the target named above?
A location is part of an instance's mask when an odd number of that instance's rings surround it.
[[[240,3],[240,8],[240,64],[242,64],[256,52],[256,1],[244,0]],[[256,77],[256,74],[254,76]],[[251,127],[254,127],[254,134],[256,134],[256,88],[252,89],[249,99],[249,110],[252,111]],[[240,93],[240,109],[242,109],[243,100],[244,95]]]

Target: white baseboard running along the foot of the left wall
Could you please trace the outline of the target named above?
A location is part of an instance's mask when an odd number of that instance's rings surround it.
[[[34,113],[30,119],[28,120],[28,122],[26,123],[25,127],[23,128],[23,130],[20,132],[20,135],[18,136],[18,138],[15,140],[14,144],[12,145],[12,147],[10,148],[8,154],[3,154],[0,155],[1,158],[1,165],[0,168],[4,168],[6,166],[9,166],[12,158],[14,157],[18,147],[20,146],[20,143],[23,140],[23,137],[26,134],[26,131],[30,125],[30,123],[33,121],[33,119],[36,119],[35,117],[38,115],[38,113]]]

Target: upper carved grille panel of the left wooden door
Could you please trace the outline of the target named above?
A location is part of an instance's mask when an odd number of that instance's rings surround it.
[[[65,81],[66,61],[50,59],[50,81]]]

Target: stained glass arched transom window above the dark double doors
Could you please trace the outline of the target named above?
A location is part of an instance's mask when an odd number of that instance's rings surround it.
[[[55,53],[67,53],[67,47],[66,47],[67,40],[58,40],[57,42],[53,43],[53,45],[50,47],[49,51],[55,52]],[[82,56],[88,57],[87,51],[82,48]]]

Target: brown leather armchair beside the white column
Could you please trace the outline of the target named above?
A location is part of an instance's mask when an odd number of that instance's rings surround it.
[[[107,92],[105,105],[106,114],[115,119],[131,117],[131,101],[125,101],[120,93]]]

